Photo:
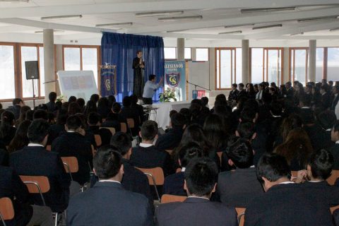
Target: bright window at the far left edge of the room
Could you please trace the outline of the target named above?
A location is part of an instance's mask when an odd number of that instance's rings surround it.
[[[0,99],[16,97],[13,45],[0,45],[0,79]]]

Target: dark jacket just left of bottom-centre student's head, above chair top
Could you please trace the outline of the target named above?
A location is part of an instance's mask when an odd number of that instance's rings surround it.
[[[164,186],[162,186],[162,194],[170,194],[174,196],[187,196],[184,190],[184,172],[177,172],[165,178]]]

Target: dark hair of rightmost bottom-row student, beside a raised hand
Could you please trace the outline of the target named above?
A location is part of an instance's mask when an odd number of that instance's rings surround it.
[[[334,165],[333,155],[328,150],[318,150],[311,154],[308,164],[314,178],[326,180],[331,176]]]

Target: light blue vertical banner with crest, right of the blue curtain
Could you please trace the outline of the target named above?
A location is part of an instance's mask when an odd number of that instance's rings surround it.
[[[185,61],[165,61],[165,90],[175,90],[177,101],[186,100]]]

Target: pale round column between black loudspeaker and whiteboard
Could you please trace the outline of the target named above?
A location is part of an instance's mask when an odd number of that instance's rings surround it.
[[[44,29],[44,81],[54,81],[54,34],[53,29]],[[44,84],[44,101],[50,92],[55,92],[55,83]]]

